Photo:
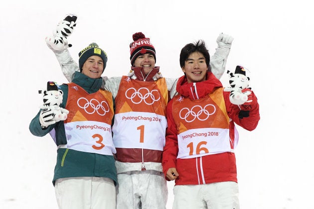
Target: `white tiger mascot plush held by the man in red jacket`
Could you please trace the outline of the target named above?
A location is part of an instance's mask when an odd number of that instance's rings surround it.
[[[252,102],[248,100],[248,95],[251,94],[250,91],[242,92],[243,89],[251,89],[249,88],[250,78],[245,76],[245,69],[242,66],[237,66],[234,73],[231,73],[229,70],[227,71],[229,75],[229,83],[231,87],[226,87],[224,89],[225,92],[230,92],[230,102],[232,104],[244,104],[247,102]]]

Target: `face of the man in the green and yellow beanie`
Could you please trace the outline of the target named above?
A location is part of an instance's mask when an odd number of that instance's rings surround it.
[[[82,73],[90,78],[100,78],[104,69],[104,61],[101,57],[90,56],[82,67]]]

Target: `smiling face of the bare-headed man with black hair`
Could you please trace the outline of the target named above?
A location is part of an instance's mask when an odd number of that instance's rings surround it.
[[[207,65],[204,55],[197,51],[191,53],[185,60],[182,71],[186,75],[187,83],[205,81]]]

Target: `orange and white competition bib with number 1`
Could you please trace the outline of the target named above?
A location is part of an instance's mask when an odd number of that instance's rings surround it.
[[[164,79],[155,82],[123,77],[116,101],[113,141],[119,148],[163,150],[168,90]]]

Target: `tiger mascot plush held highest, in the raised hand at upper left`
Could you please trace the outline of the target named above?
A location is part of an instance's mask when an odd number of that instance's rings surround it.
[[[53,30],[53,35],[45,38],[48,47],[55,51],[61,51],[71,47],[72,45],[68,44],[67,36],[72,34],[76,26],[76,20],[77,16],[75,14],[68,14],[61,20],[57,28]]]

